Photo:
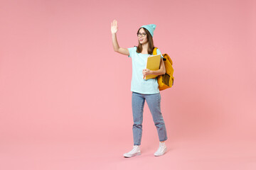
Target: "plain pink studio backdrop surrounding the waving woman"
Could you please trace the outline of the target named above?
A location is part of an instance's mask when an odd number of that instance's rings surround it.
[[[256,2],[1,1],[0,169],[256,169]],[[161,91],[168,152],[147,105],[132,149],[132,62],[154,23],[174,62]],[[136,167],[136,168],[134,168]]]

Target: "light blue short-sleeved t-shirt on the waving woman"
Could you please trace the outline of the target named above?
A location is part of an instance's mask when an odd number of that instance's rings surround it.
[[[132,82],[131,91],[137,92],[139,94],[158,94],[159,84],[157,83],[157,78],[155,79],[143,79],[142,70],[146,69],[146,58],[149,56],[147,54],[137,53],[137,47],[130,47],[129,56],[132,58]],[[158,55],[161,55],[159,49],[156,50]],[[161,55],[161,58],[164,58]]]

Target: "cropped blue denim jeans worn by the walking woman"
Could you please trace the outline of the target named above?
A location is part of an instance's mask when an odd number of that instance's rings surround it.
[[[166,127],[164,124],[164,118],[161,114],[160,102],[161,96],[158,94],[139,94],[132,92],[132,115],[134,124],[132,126],[134,145],[141,145],[142,141],[142,120],[144,103],[149,106],[149,110],[156,125],[156,130],[159,135],[159,141],[167,140]]]

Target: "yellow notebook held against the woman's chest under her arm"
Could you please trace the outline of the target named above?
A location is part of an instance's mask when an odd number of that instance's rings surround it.
[[[149,55],[146,60],[146,69],[158,70],[160,68],[161,55]],[[157,75],[150,74],[144,77],[144,79],[152,79],[158,77]]]

